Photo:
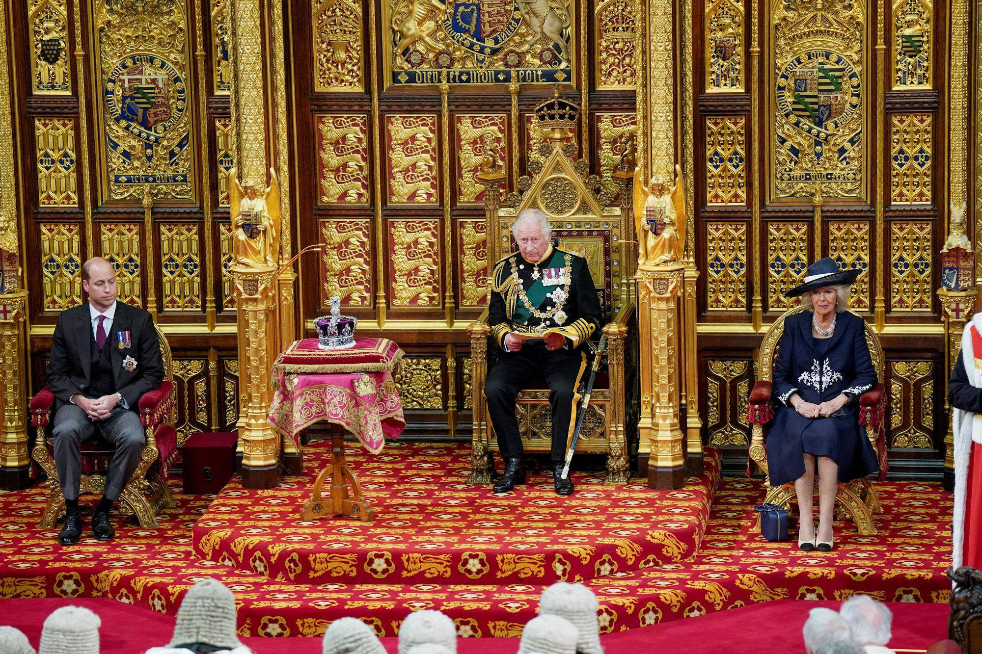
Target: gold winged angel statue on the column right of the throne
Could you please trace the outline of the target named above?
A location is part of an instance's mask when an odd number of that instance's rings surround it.
[[[685,245],[685,194],[682,168],[676,165],[675,184],[668,192],[662,178],[644,184],[640,167],[634,169],[634,231],[637,264],[658,266],[682,259]]]

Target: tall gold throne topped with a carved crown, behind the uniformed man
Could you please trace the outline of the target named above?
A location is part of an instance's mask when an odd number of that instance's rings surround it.
[[[628,280],[634,273],[631,241],[630,191],[624,181],[618,188],[601,189],[600,179],[590,174],[589,163],[577,159],[577,147],[567,142],[575,126],[578,106],[557,94],[536,108],[539,126],[546,141],[538,147],[538,159],[528,163],[529,176],[518,179],[518,192],[501,206],[499,191],[506,176],[494,168],[493,157],[486,157],[478,180],[484,184],[487,220],[488,261],[497,261],[514,251],[512,223],[518,212],[538,207],[549,216],[553,242],[583,256],[589,264],[594,286],[600,296],[605,326],[602,334],[609,347],[606,369],[597,375],[590,406],[576,442],[576,452],[607,455],[608,483],[626,483],[628,471],[627,434],[634,433],[638,403],[636,362],[629,347],[636,341],[636,311]],[[611,191],[622,198],[614,201]],[[489,270],[490,272],[490,270]],[[493,453],[498,451],[494,428],[488,418],[484,381],[499,353],[489,338],[487,309],[467,327],[470,335],[471,406],[473,437],[471,473],[468,481],[491,481]],[[600,334],[596,335],[599,339]],[[627,353],[627,357],[626,357]],[[588,354],[592,361],[593,354]],[[552,409],[544,382],[518,395],[516,413],[525,452],[549,452]],[[575,415],[573,416],[575,419]]]

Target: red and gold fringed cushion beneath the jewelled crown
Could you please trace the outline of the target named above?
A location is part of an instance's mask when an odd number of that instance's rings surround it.
[[[294,341],[276,357],[275,376],[281,373],[394,372],[403,351],[389,339],[356,338],[355,347],[321,350],[317,339]]]

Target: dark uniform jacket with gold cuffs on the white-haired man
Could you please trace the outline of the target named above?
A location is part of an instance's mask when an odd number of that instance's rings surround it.
[[[567,262],[569,261],[569,264]],[[514,274],[513,274],[514,264]],[[564,284],[544,286],[546,274],[544,270],[561,270],[569,265],[570,285],[568,297],[562,299],[562,310],[565,319],[557,324],[555,319],[547,320],[531,315],[518,299],[516,278],[521,281],[526,297],[533,307],[539,311],[556,304],[550,297],[556,290],[565,288]],[[593,286],[586,260],[571,252],[553,247],[547,252],[539,264],[540,277],[532,279],[534,264],[526,261],[519,252],[515,252],[495,264],[491,286],[491,302],[488,305],[488,324],[491,326],[491,336],[495,343],[502,347],[505,336],[513,331],[529,331],[544,326],[556,328],[563,332],[571,341],[571,347],[577,348],[589,341],[593,333],[600,329],[601,308],[597,291]]]

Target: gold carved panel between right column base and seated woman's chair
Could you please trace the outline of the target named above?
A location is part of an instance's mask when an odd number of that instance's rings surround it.
[[[752,366],[746,359],[706,359],[706,429],[709,444],[749,445],[746,405]]]

